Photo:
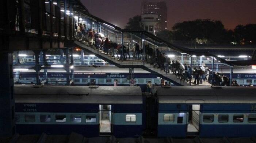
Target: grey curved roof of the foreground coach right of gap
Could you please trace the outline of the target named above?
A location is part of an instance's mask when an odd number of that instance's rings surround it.
[[[159,103],[256,103],[255,87],[156,87]]]

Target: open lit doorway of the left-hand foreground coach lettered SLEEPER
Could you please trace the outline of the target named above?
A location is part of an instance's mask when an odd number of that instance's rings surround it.
[[[111,105],[99,105],[100,135],[111,135]]]

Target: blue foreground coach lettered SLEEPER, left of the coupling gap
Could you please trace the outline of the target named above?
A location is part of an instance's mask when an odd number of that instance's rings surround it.
[[[17,85],[14,95],[20,134],[135,137],[143,130],[140,87]]]

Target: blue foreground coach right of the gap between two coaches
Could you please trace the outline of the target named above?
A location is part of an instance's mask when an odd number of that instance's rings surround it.
[[[156,88],[158,136],[256,135],[255,87]]]

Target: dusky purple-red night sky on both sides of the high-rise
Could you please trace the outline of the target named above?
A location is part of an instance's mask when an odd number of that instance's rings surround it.
[[[141,14],[142,0],[81,0],[92,15],[124,28]],[[159,0],[148,0],[159,1]],[[256,23],[256,0],[160,0],[167,2],[168,25],[195,19],[221,20],[226,29]]]

